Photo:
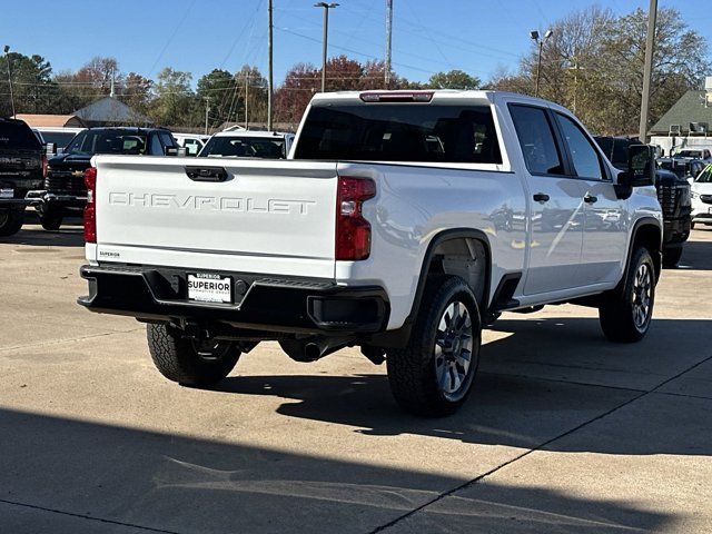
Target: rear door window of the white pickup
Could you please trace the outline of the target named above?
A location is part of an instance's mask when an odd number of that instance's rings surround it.
[[[510,112],[528,171],[533,175],[563,175],[561,151],[546,111],[533,106],[511,105]]]

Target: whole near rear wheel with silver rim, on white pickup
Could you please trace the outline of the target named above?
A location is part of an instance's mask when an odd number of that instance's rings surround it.
[[[479,364],[475,296],[457,276],[428,278],[408,345],[386,354],[398,405],[415,415],[451,415],[463,405]]]

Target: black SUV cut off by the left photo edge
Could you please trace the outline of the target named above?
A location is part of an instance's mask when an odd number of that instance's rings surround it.
[[[0,118],[0,236],[20,231],[27,192],[42,187],[47,158],[42,145],[21,120]]]

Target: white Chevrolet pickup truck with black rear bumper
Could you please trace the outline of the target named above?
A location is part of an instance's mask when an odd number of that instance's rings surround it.
[[[92,164],[79,304],[147,323],[181,384],[217,383],[263,340],[300,362],[359,346],[403,408],[439,416],[467,397],[503,310],[594,306],[614,342],[650,326],[653,151],[632,147],[619,171],[545,100],[324,93],[287,160]]]

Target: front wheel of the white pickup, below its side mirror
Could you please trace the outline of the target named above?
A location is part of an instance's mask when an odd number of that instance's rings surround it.
[[[611,342],[635,343],[650,328],[655,304],[655,265],[646,248],[633,251],[627,271],[619,286],[603,295],[599,318]]]

